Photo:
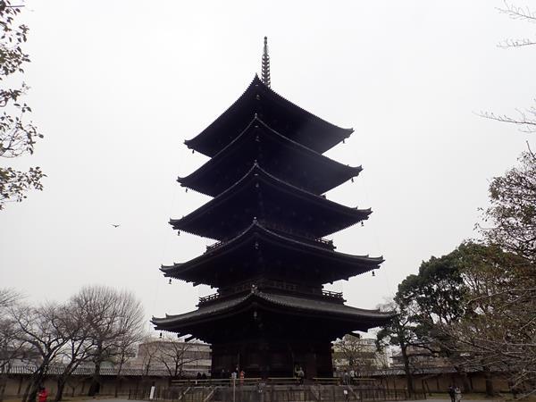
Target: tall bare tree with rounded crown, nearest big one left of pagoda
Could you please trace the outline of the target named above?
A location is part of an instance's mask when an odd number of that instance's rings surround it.
[[[83,312],[89,337],[95,344],[92,354],[95,372],[88,391],[89,396],[94,396],[100,389],[101,364],[121,355],[125,337],[142,330],[144,312],[132,293],[105,286],[83,288],[72,301]]]

